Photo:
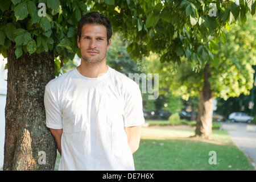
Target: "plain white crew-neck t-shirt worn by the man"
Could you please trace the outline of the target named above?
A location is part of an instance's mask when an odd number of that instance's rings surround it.
[[[144,123],[141,90],[110,68],[100,77],[77,68],[50,81],[46,125],[63,129],[59,170],[134,170],[125,126]]]

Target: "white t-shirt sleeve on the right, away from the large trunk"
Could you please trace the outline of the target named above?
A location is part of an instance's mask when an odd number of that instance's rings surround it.
[[[123,114],[125,126],[139,126],[144,121],[142,96],[139,85],[134,82],[127,89],[125,97],[125,110]]]

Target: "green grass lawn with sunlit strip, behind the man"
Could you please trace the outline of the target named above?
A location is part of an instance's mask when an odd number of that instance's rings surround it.
[[[191,138],[193,129],[172,129],[170,126],[143,127],[139,150],[134,153],[136,170],[254,170],[249,159],[234,146],[226,131],[213,130],[212,139]],[[216,152],[217,164],[208,160]],[[59,166],[57,156],[55,170]]]

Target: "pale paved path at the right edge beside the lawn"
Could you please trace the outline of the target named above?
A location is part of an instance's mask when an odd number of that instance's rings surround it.
[[[256,126],[247,123],[223,123],[222,129],[228,130],[234,144],[252,160],[256,170]]]

